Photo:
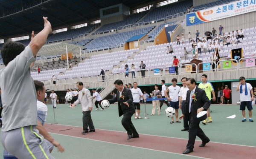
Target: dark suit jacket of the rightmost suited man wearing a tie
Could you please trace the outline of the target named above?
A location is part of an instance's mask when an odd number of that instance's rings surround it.
[[[203,107],[204,111],[207,111],[207,109],[211,105],[211,102],[209,101],[209,98],[206,96],[205,91],[202,90],[201,88],[198,88],[198,86],[196,86],[196,88],[195,88],[195,98],[197,100],[195,102],[194,102],[194,99],[192,100],[191,112],[189,114],[190,93],[191,93],[191,91],[187,91],[186,104],[185,104],[185,108],[182,111],[182,114],[185,115],[185,116],[190,115],[189,120],[193,120],[194,122],[201,122],[201,121],[207,119],[207,114],[205,114],[204,116],[201,116],[200,118],[196,117],[197,116],[197,110],[199,108]]]

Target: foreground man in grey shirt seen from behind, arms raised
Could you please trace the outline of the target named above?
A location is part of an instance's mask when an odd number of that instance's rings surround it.
[[[38,130],[37,97],[30,69],[36,61],[36,54],[45,44],[52,26],[44,18],[44,29],[36,36],[32,31],[31,41],[25,47],[22,43],[4,43],[1,54],[5,68],[0,70],[0,86],[3,104],[3,147],[19,159],[49,158],[49,148]],[[22,93],[17,90],[23,90]],[[12,100],[10,100],[12,99]],[[22,101],[22,102],[21,102]],[[29,145],[26,144],[29,142]]]

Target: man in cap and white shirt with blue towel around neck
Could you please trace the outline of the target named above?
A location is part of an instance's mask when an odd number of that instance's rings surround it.
[[[252,119],[252,101],[254,100],[253,96],[251,97],[251,95],[253,95],[253,87],[252,85],[250,85],[250,83],[245,82],[245,78],[244,77],[240,77],[239,78],[239,84],[236,87],[236,91],[240,91],[240,110],[242,111],[242,115],[244,117],[244,119],[242,120],[242,122],[246,122],[246,117],[245,117],[245,106],[247,106],[247,109],[249,111],[249,121],[253,122]]]

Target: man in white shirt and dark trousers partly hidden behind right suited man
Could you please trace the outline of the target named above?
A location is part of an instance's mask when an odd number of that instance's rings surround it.
[[[180,92],[179,92],[179,108],[182,110],[185,108],[185,104],[186,104],[186,94],[187,91],[189,90],[189,88],[186,86],[186,77],[183,77],[181,79],[182,85],[183,87],[180,88]],[[183,118],[183,129],[181,129],[181,131],[189,131],[189,116],[184,116]]]

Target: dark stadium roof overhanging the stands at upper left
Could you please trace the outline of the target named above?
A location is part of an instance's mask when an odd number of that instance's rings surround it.
[[[0,39],[37,34],[48,17],[52,29],[99,20],[99,9],[123,3],[134,8],[151,0],[1,0]]]

